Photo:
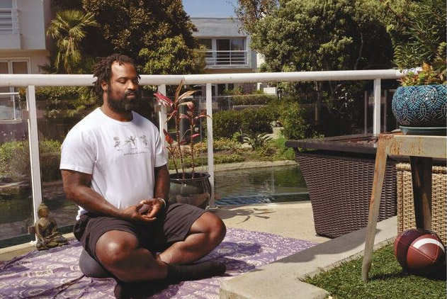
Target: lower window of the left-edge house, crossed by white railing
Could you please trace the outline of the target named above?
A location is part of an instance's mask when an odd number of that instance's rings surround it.
[[[29,74],[29,60],[0,60],[0,74]],[[20,98],[15,87],[0,87],[0,120],[20,120]]]

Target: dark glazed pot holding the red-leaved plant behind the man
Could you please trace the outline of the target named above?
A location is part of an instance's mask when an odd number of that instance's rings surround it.
[[[169,203],[188,203],[205,209],[211,197],[210,174],[196,172],[194,179],[191,173],[171,174],[171,187],[169,188]]]

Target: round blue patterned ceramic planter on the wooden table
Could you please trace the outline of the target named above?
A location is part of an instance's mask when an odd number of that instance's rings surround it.
[[[397,123],[409,127],[446,127],[446,85],[400,86],[392,97]]]

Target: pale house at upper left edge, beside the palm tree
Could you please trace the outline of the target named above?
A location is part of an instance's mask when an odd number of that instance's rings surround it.
[[[0,74],[39,74],[51,40],[45,35],[51,0],[0,0]],[[0,88],[0,120],[21,118],[13,87]]]

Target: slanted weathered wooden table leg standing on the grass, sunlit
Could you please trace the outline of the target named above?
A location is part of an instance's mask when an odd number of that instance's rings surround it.
[[[375,229],[380,207],[380,197],[382,196],[383,180],[385,177],[385,167],[387,164],[387,154],[389,152],[388,140],[379,138],[377,153],[375,154],[373,192],[368,214],[368,227],[366,227],[365,252],[363,254],[361,277],[364,282],[368,281],[368,272],[371,268],[373,258],[373,247]]]

